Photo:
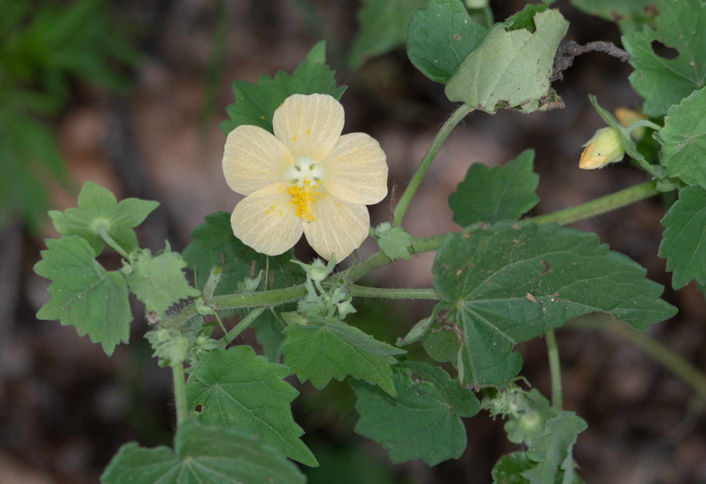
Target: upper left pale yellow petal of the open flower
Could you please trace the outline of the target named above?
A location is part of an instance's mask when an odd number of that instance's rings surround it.
[[[242,124],[228,135],[223,153],[223,175],[236,193],[250,195],[270,183],[285,181],[292,153],[272,133]]]

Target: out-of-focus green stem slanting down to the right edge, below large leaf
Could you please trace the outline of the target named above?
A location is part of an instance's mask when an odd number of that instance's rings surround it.
[[[631,328],[625,322],[618,321],[611,315],[592,314],[575,317],[565,325],[570,328],[598,328],[611,329],[630,343],[638,346],[642,351],[662,363],[671,373],[681,378],[683,382],[706,397],[706,376],[694,365],[679,356],[675,351],[661,341],[650,337],[648,334]]]

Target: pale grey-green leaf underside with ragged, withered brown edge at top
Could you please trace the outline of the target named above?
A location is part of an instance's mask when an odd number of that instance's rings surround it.
[[[537,31],[530,33],[496,23],[448,80],[448,99],[489,113],[503,107],[525,113],[549,109],[558,99],[549,77],[568,22],[558,10],[547,10],[534,16],[534,24]]]

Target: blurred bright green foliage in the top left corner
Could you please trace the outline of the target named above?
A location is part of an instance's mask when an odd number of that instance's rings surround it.
[[[127,37],[107,0],[0,0],[0,227],[19,213],[36,233],[48,183],[70,186],[52,117],[76,80],[126,89],[121,68],[138,57]]]

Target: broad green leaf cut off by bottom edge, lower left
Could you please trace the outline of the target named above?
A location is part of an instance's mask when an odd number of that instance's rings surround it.
[[[174,435],[174,450],[129,442],[110,460],[102,484],[304,484],[294,463],[255,435],[190,420]]]

